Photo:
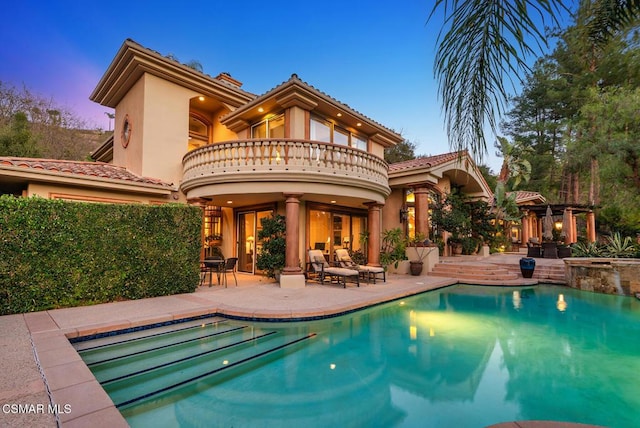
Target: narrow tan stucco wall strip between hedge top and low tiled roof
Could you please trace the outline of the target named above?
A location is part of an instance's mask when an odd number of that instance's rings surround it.
[[[106,203],[168,203],[174,202],[171,198],[162,196],[145,196],[126,192],[114,192],[112,190],[96,190],[90,188],[76,188],[72,186],[59,186],[43,183],[30,183],[26,196],[40,196],[47,199],[65,199],[83,202]]]

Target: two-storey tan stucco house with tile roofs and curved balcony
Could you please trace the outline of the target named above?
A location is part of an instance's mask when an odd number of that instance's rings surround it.
[[[212,77],[126,40],[90,99],[115,109],[96,162],[0,158],[3,193],[197,205],[203,254],[220,246],[250,274],[260,220],[281,213],[282,286],[304,286],[309,248],[361,249],[379,265],[382,230],[430,234],[434,195],[453,186],[491,195],[465,152],[388,165],[384,149],[400,134],[295,74],[257,96],[229,74]]]

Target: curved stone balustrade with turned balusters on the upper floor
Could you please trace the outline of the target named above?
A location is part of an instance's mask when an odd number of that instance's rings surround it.
[[[309,182],[379,188],[385,196],[390,192],[388,166],[383,159],[362,150],[317,141],[265,139],[215,143],[190,151],[182,164],[185,191],[218,180],[259,181],[272,175],[280,181],[302,178]]]

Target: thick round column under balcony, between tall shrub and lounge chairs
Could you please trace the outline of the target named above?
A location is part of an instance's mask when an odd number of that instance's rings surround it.
[[[286,198],[286,252],[285,264],[280,275],[280,288],[304,288],[305,280],[300,268],[298,251],[300,242],[300,198],[303,193],[283,193]]]

